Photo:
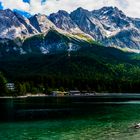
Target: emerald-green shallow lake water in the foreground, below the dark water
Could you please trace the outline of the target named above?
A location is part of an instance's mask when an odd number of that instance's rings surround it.
[[[63,119],[2,122],[0,140],[140,140],[139,122],[140,102],[94,105]]]

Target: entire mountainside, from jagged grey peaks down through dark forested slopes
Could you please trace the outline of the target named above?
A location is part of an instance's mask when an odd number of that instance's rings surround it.
[[[0,10],[0,74],[28,93],[61,86],[139,93],[140,55],[132,53],[140,52],[139,29],[140,19],[116,7],[30,18]]]

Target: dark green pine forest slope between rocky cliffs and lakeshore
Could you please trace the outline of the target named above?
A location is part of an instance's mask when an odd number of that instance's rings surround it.
[[[140,92],[140,55],[98,45],[70,54],[3,57],[0,70],[1,83],[14,82],[17,95],[49,93],[55,89]],[[2,87],[1,95],[9,94],[4,84]]]

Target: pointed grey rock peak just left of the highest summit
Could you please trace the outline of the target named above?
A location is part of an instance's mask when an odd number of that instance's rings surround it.
[[[103,26],[94,18],[92,12],[78,8],[70,14],[70,17],[83,32],[91,35],[95,40],[103,40]]]

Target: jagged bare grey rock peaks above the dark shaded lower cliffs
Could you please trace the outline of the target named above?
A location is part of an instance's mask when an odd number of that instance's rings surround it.
[[[60,10],[49,17],[38,14],[29,19],[9,9],[0,10],[0,42],[10,39],[20,44],[17,38],[24,40],[39,34],[47,35],[50,30],[56,30],[64,36],[76,35],[79,39],[83,35],[89,38],[92,36],[106,47],[140,50],[140,19],[127,17],[116,7],[103,7],[93,11],[78,8],[70,14]],[[63,41],[58,44],[65,44]],[[56,46],[54,44],[53,48]],[[41,50],[48,52],[43,47]]]

